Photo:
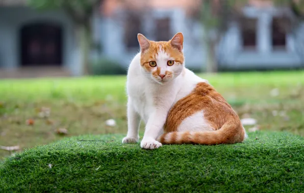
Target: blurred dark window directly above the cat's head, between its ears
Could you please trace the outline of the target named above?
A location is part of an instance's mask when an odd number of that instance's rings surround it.
[[[155,37],[156,41],[169,41],[171,37],[170,18],[155,20]]]

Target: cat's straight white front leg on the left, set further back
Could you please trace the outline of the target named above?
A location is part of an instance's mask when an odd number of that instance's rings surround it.
[[[128,115],[128,134],[122,139],[122,143],[137,143],[139,140],[139,124],[140,116],[135,111],[132,101],[128,100],[127,105],[127,115]]]

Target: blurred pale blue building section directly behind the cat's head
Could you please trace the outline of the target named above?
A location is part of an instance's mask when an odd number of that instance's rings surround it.
[[[104,53],[128,66],[139,51],[137,34],[149,40],[168,41],[174,34],[184,35],[187,67],[200,68],[204,63],[204,42],[200,21],[192,18],[197,0],[108,0],[102,7],[102,36]]]

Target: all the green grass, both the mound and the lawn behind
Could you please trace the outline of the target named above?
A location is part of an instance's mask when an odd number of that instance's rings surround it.
[[[304,71],[200,76],[261,131],[234,145],[143,150],[121,144],[124,76],[0,80],[0,145],[27,148],[0,150],[0,192],[303,192]]]

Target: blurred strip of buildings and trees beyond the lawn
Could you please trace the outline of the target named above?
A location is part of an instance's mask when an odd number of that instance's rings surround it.
[[[139,50],[138,33],[168,41],[179,31],[186,65],[194,71],[303,68],[303,5],[301,0],[0,0],[0,76],[125,74]]]

